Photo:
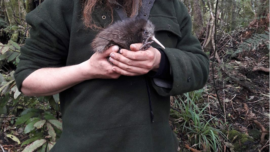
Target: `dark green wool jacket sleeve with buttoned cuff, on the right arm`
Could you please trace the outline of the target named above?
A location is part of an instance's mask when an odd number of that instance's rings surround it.
[[[175,96],[201,89],[209,75],[209,58],[191,33],[192,23],[187,8],[178,2],[175,10],[182,37],[178,39],[176,48],[157,47],[168,57],[173,77],[172,81],[165,82],[171,83],[169,88],[160,87],[152,80],[153,87],[161,96]]]

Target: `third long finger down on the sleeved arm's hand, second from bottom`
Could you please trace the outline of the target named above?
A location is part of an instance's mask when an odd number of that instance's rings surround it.
[[[136,66],[130,66],[130,65],[126,65],[122,62],[119,62],[117,60],[112,59],[111,57],[109,58],[110,62],[112,62],[114,65],[120,67],[121,69],[127,71],[127,72],[131,72],[131,73],[138,73],[138,74],[146,74],[149,72],[149,70],[147,69],[143,69],[140,67],[136,67]]]

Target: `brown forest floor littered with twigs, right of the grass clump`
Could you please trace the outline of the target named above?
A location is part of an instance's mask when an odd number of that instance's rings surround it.
[[[209,108],[205,109],[206,113],[210,114],[210,117],[227,122],[226,126],[218,123],[219,129],[237,130],[239,134],[250,137],[250,140],[241,142],[243,139],[232,132],[231,137],[235,138],[232,143],[240,147],[245,146],[238,151],[269,151],[269,50],[262,47],[227,59],[225,55],[220,54],[222,51],[219,52],[219,58],[224,62],[224,66],[222,69],[218,62],[215,63],[214,77],[224,108],[221,108],[217,100],[210,63],[210,76],[205,88],[206,93],[203,94],[203,102],[209,103]],[[241,85],[235,80],[239,80]],[[171,120],[173,123],[175,119]],[[230,131],[225,131],[224,134],[232,140]],[[184,147],[189,141],[183,138],[184,134],[178,134],[178,137],[182,140],[180,151],[188,151]],[[227,146],[226,151],[230,152],[229,149]]]

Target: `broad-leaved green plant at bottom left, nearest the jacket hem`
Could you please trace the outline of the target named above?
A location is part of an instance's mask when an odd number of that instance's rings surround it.
[[[16,120],[15,126],[23,125],[24,134],[29,134],[30,139],[24,141],[21,147],[28,144],[23,151],[49,151],[62,133],[62,121],[57,120],[52,111],[28,108],[23,110]]]

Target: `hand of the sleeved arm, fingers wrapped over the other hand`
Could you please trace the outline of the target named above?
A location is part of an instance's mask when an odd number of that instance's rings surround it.
[[[144,75],[150,70],[157,71],[161,59],[160,52],[152,46],[140,51],[142,45],[142,43],[131,44],[131,51],[121,49],[121,54],[112,52],[110,54],[110,62],[114,64],[112,70],[126,76]]]

